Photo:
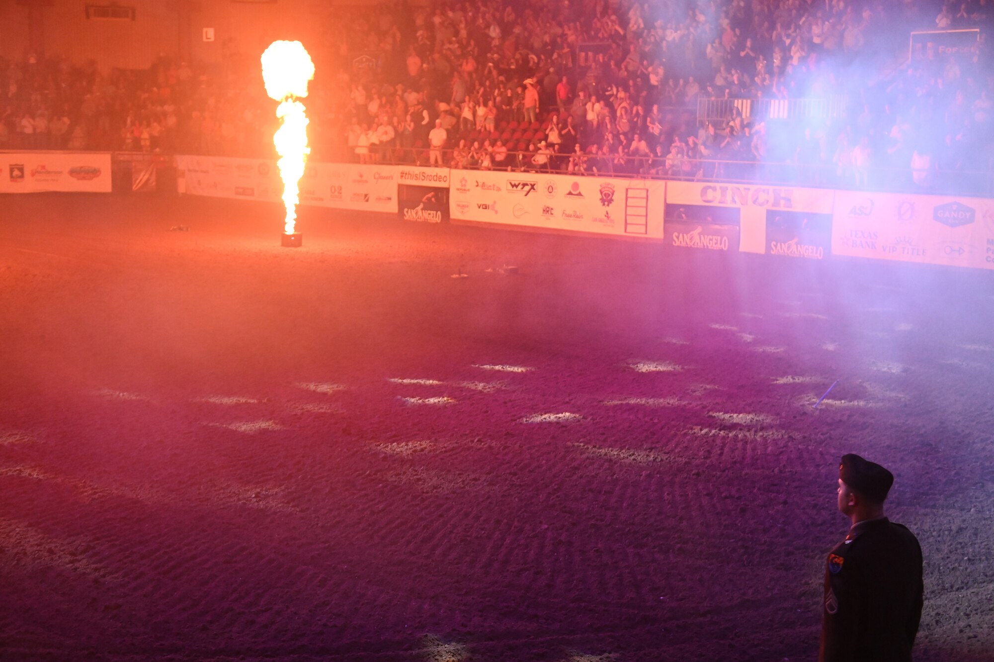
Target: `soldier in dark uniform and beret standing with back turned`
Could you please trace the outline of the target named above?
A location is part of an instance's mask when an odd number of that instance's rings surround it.
[[[821,662],[910,662],[921,618],[921,548],[884,516],[894,475],[859,455],[839,465],[839,510],[852,520],[825,563]]]

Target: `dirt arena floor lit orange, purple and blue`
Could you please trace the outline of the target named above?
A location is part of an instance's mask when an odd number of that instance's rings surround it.
[[[0,659],[814,660],[850,451],[994,659],[994,273],[280,216],[0,199]]]

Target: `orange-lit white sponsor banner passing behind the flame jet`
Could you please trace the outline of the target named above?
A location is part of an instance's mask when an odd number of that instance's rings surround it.
[[[277,202],[283,183],[275,160],[177,156],[185,193]],[[397,214],[397,166],[309,161],[300,178],[300,204]]]

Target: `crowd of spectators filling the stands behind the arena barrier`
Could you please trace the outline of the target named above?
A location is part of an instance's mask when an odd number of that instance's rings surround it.
[[[306,103],[313,158],[670,177],[793,165],[867,186],[991,169],[994,0],[514,0],[343,10]],[[908,61],[915,29],[981,29]],[[845,97],[846,111],[699,122],[699,98]],[[271,155],[257,55],[101,72],[0,60],[0,149]],[[736,110],[739,108],[739,110]],[[913,170],[912,170],[913,169]],[[779,173],[783,171],[777,171]],[[909,173],[913,173],[911,176]],[[885,173],[881,175],[880,173]],[[983,177],[983,175],[977,175]]]

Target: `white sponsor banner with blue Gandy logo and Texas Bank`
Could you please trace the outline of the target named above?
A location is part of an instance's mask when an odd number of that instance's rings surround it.
[[[835,254],[994,268],[992,200],[851,191],[835,196]]]

